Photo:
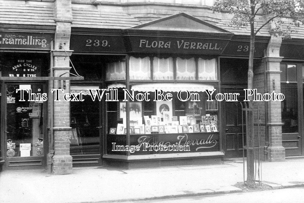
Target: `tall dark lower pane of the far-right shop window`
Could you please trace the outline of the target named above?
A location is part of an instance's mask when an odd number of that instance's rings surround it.
[[[281,103],[282,133],[298,132],[298,94],[296,84],[281,83],[285,100]]]

